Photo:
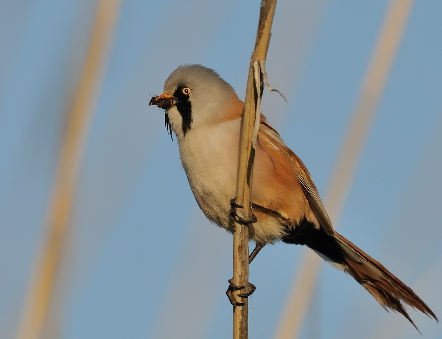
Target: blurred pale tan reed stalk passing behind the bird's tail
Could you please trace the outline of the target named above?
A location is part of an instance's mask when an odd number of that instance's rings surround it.
[[[383,21],[383,28],[354,109],[353,120],[347,131],[341,153],[337,158],[324,199],[330,219],[335,225],[340,218],[353,182],[361,150],[375,116],[412,5],[413,0],[392,0]],[[293,339],[299,337],[302,321],[316,288],[321,262],[313,251],[304,253],[275,338]]]

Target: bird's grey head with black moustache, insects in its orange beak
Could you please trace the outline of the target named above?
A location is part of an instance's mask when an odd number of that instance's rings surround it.
[[[214,70],[201,65],[182,65],[171,73],[164,84],[164,93],[150,100],[166,110],[165,123],[178,138],[198,126],[223,118],[234,89]]]

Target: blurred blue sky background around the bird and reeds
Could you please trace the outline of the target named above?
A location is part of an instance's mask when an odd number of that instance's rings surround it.
[[[44,240],[94,1],[0,1],[0,338],[13,338]],[[262,111],[322,195],[388,1],[280,0]],[[336,227],[442,317],[442,2],[415,1]],[[218,71],[244,98],[258,1],[122,1],[97,92],[55,290],[55,338],[230,338],[232,238],[194,201],[164,113],[178,65]],[[326,207],[326,206],[325,206]],[[250,268],[250,338],[271,338],[304,249]],[[423,338],[442,327],[410,314]],[[301,338],[422,338],[328,265]]]

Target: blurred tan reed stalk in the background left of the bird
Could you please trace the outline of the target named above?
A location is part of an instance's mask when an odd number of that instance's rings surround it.
[[[60,149],[57,176],[48,209],[46,243],[34,268],[17,331],[18,339],[39,339],[48,326],[51,297],[68,234],[78,172],[104,61],[118,17],[119,3],[119,0],[98,1],[85,65],[68,114]]]

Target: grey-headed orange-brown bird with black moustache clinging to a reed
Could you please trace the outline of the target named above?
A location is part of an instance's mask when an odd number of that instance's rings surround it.
[[[233,233],[236,181],[244,102],[211,68],[186,64],[175,69],[164,93],[149,105],[165,110],[165,126],[177,138],[190,188],[204,215]],[[345,271],[380,304],[404,315],[405,305],[438,321],[435,313],[379,261],[337,233],[309,171],[263,114],[255,149],[249,240],[256,247],[249,262],[267,244],[305,245]],[[231,300],[233,303],[233,301]],[[416,327],[417,329],[417,327]]]

